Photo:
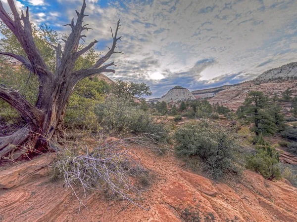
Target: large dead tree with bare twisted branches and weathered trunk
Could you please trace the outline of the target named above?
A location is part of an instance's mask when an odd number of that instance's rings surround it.
[[[84,53],[89,51],[98,41],[94,40],[88,46],[78,50],[80,39],[86,37],[83,31],[88,31],[87,25],[83,25],[85,16],[86,1],[80,12],[76,11],[77,19],[72,19],[70,24],[71,33],[67,39],[62,39],[64,45],[51,45],[56,51],[56,69],[51,72],[35,45],[32,35],[31,22],[29,20],[29,8],[21,15],[18,13],[14,0],[8,0],[12,11],[11,18],[0,1],[0,19],[17,37],[27,57],[15,55],[9,52],[0,52],[18,60],[28,70],[39,78],[39,97],[36,106],[30,104],[18,91],[0,85],[0,98],[15,108],[26,120],[27,125],[10,136],[0,137],[0,157],[12,153],[16,148],[27,146],[41,150],[49,148],[51,142],[56,142],[63,131],[63,118],[70,95],[75,85],[88,76],[102,73],[114,73],[109,67],[115,66],[113,62],[106,63],[115,51],[120,29],[120,20],[117,22],[115,32],[112,32],[112,46],[109,51],[98,59],[96,64],[89,69],[74,71],[75,61]],[[16,155],[17,156],[17,155]]]

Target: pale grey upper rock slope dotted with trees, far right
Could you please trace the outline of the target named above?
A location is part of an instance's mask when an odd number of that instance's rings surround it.
[[[284,66],[268,70],[260,74],[256,81],[269,81],[272,79],[297,78],[297,62],[289,63]]]

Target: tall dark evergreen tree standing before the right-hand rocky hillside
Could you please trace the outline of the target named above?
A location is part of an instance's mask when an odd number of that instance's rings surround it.
[[[250,91],[244,102],[243,109],[247,120],[253,122],[254,126],[252,131],[256,136],[260,133],[274,134],[277,127],[273,121],[273,118],[267,111],[269,99],[260,91]]]

